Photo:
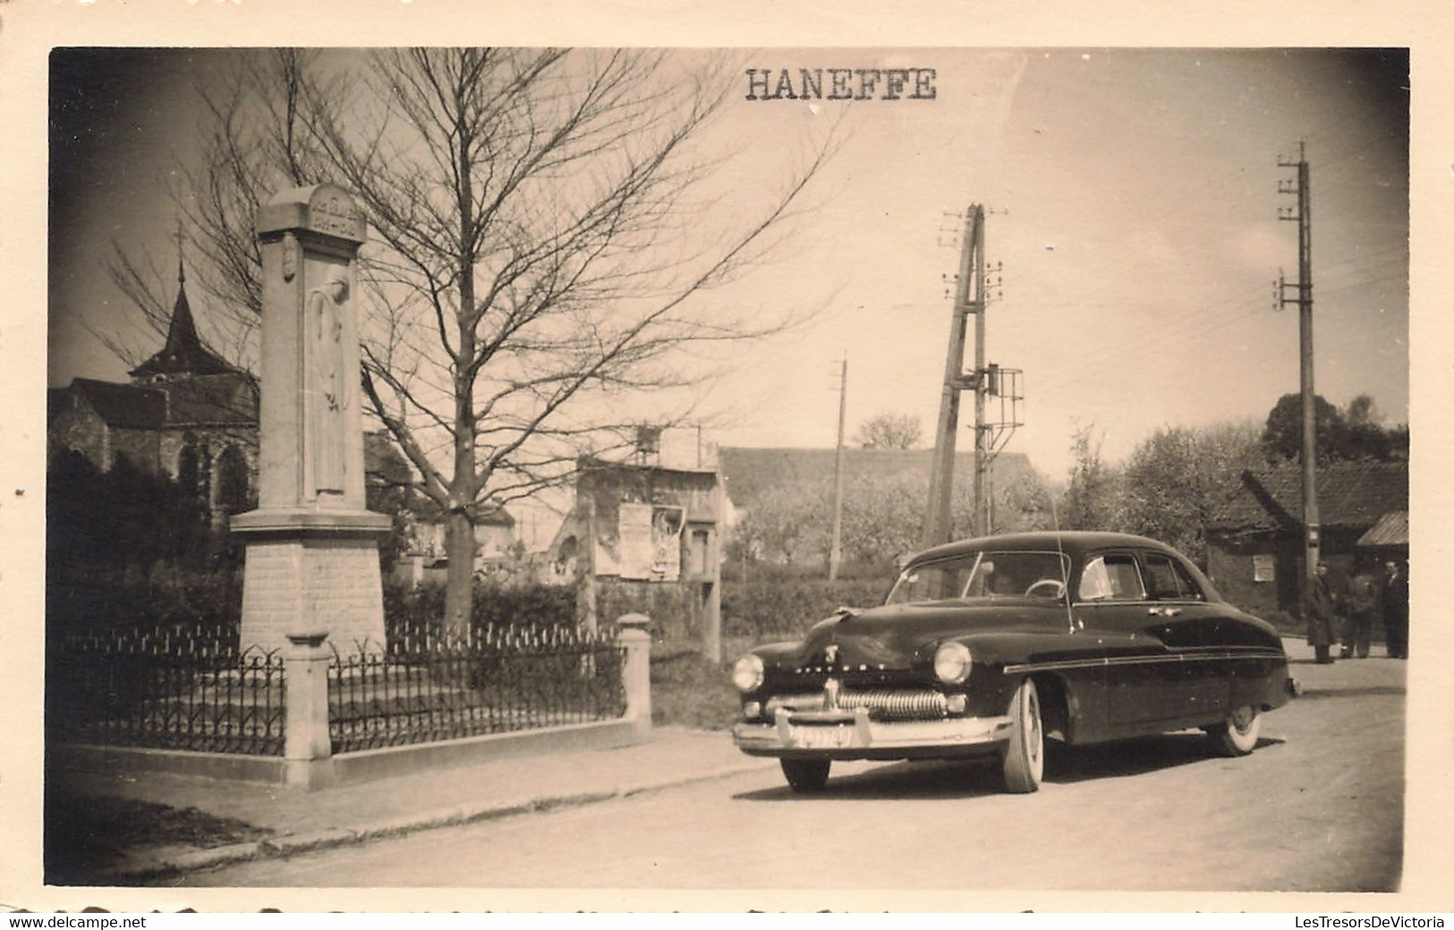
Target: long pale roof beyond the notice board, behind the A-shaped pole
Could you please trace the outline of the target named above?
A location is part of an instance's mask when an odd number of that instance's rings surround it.
[[[727,496],[736,506],[752,502],[769,488],[795,483],[832,482],[836,450],[832,448],[734,448],[717,450]],[[893,477],[909,474],[929,480],[932,450],[845,448],[843,476]],[[1035,469],[1024,453],[1000,453],[995,457],[995,480],[1005,483]],[[960,451],[954,458],[955,483],[974,480],[974,451]]]

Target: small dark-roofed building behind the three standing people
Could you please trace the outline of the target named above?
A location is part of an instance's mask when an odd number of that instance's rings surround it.
[[[1223,597],[1253,614],[1301,616],[1307,576],[1301,474],[1296,461],[1243,472],[1208,521],[1208,573]],[[1348,578],[1390,553],[1407,559],[1407,461],[1320,464],[1319,556],[1329,572]]]

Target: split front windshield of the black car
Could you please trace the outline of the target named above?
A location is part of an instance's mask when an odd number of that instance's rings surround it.
[[[885,604],[967,598],[1050,598],[1066,592],[1070,560],[1059,552],[977,550],[919,562],[899,575]]]

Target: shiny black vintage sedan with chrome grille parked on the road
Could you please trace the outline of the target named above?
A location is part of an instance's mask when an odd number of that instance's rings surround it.
[[[737,659],[749,755],[819,790],[833,760],[997,754],[1034,792],[1045,738],[1201,728],[1227,755],[1296,691],[1277,630],[1176,550],[1120,533],[1021,533],[915,556],[881,607]]]

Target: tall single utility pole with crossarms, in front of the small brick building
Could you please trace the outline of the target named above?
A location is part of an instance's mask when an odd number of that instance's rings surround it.
[[[1307,544],[1304,563],[1306,578],[1317,572],[1319,515],[1317,515],[1317,410],[1313,403],[1313,211],[1309,189],[1307,147],[1297,144],[1297,162],[1278,159],[1280,167],[1297,169],[1293,182],[1280,180],[1278,194],[1296,194],[1297,207],[1278,210],[1280,220],[1297,223],[1297,295],[1287,297],[1287,281],[1278,275],[1278,303],[1297,304],[1297,333],[1300,381],[1303,390],[1303,527]]]

